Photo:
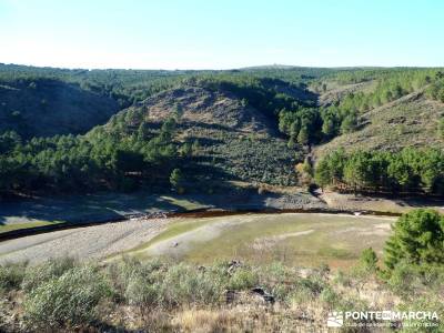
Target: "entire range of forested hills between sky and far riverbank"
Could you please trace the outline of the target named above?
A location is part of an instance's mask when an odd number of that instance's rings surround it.
[[[396,162],[416,174],[408,189],[401,173],[389,170],[383,183],[362,181],[369,161],[344,167],[352,179],[336,174],[345,169],[329,168],[331,173],[314,178],[314,169],[339,149],[347,154],[434,148],[424,155],[441,161],[443,72],[89,71],[0,64],[0,193],[141,186],[213,192],[223,182],[241,181],[280,186],[341,182],[345,189],[438,194],[441,162],[423,180],[416,164]],[[398,157],[405,155],[418,153]],[[385,155],[381,160],[391,163]]]

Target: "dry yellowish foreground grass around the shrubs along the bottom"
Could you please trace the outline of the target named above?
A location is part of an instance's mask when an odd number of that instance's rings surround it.
[[[84,268],[78,264],[71,270],[84,270]],[[22,286],[0,290],[0,331],[38,332],[33,331],[34,323],[27,322],[28,310],[23,304],[29,300],[36,302],[36,295],[48,287],[56,293],[53,299],[41,299],[42,302],[52,302],[52,300],[60,302],[57,297],[65,297],[65,294],[72,297],[77,297],[77,294],[84,296],[82,285],[77,285],[74,290],[63,289],[60,292],[53,289],[54,281],[60,282],[67,274],[72,275],[71,270],[64,273],[59,272],[59,275],[62,274],[59,278],[56,274],[50,280],[43,278],[40,281],[37,280],[38,284],[31,291]],[[325,266],[301,269],[285,266],[282,263],[262,266],[241,263],[231,270],[226,262],[198,266],[165,261],[127,260],[89,272],[99,280],[104,279],[103,281],[107,281],[112,291],[103,294],[94,309],[95,320],[75,327],[70,326],[69,323],[59,322],[58,329],[51,332],[77,332],[78,330],[84,332],[329,332],[326,319],[331,311],[396,311],[407,305],[415,311],[423,309],[418,307],[422,303],[415,302],[415,296],[405,299],[405,295],[397,294],[397,289],[392,289],[390,284],[384,283],[377,270],[369,270],[362,265],[353,266],[346,273],[334,273]],[[254,284],[233,286],[233,279],[241,276],[238,275],[240,272],[248,274],[254,272],[258,274],[258,281]],[[29,276],[34,276],[34,269],[26,269],[26,274],[31,274]],[[4,274],[0,276],[7,278]],[[440,283],[438,281],[440,278],[436,282]],[[129,287],[134,286],[133,282],[137,282],[140,289],[131,294]],[[398,286],[405,284],[403,281],[398,283]],[[433,282],[430,283],[433,285]],[[41,289],[42,285],[44,289]],[[139,294],[147,292],[144,286],[154,285],[154,297],[151,300],[139,297]],[[212,287],[208,289],[210,285]],[[265,301],[252,291],[252,286],[263,287],[274,296],[275,302]],[[427,289],[427,284],[420,283],[412,286],[415,286],[416,297],[423,296],[425,300],[430,299],[431,302],[438,300],[438,296],[434,294],[435,290]],[[226,290],[232,292],[230,302],[226,301]],[[215,295],[212,294],[214,291],[216,291]],[[153,290],[144,295],[154,295],[152,292]],[[210,294],[205,295],[205,293]],[[203,299],[198,297],[199,294]],[[165,297],[171,296],[179,302],[167,301]],[[142,302],[135,303],[131,300]],[[67,303],[60,306],[65,305],[72,304]],[[79,306],[77,309],[81,311],[85,304],[80,302],[72,306]],[[431,310],[442,315],[444,311],[442,305],[431,306]],[[56,311],[52,314],[53,320],[58,319]],[[48,320],[44,313],[37,319],[39,327]]]

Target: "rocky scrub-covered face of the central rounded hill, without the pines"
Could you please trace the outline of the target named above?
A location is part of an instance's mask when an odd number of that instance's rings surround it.
[[[180,167],[193,184],[215,180],[294,184],[295,153],[276,132],[275,121],[226,91],[191,85],[167,90],[120,112],[87,138],[101,132],[128,137],[141,128],[154,135],[171,118],[176,123],[175,144],[195,147],[193,157]]]

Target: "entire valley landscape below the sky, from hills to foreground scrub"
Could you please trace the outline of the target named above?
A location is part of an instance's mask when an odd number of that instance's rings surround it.
[[[440,68],[0,64],[0,331],[442,315],[443,93]]]

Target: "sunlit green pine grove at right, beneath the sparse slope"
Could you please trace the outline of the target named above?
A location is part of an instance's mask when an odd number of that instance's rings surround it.
[[[342,191],[444,194],[444,152],[403,149],[400,152],[339,150],[323,158],[316,183]]]

